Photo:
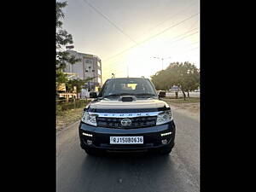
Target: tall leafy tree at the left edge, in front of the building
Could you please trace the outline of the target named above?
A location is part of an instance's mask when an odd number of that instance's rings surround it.
[[[67,83],[67,75],[63,73],[63,69],[66,67],[67,63],[74,64],[80,59],[76,59],[74,55],[69,55],[67,50],[63,50],[63,46],[67,44],[73,44],[72,35],[66,30],[62,29],[62,19],[64,19],[63,8],[67,6],[67,2],[57,2],[56,3],[56,87],[60,84]]]

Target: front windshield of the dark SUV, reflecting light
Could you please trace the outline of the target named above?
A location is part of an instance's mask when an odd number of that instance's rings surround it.
[[[109,79],[99,97],[122,95],[157,96],[153,84],[148,79]]]

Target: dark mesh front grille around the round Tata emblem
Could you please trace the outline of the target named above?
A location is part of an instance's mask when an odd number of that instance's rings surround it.
[[[140,128],[140,127],[148,127],[154,126],[157,117],[137,117],[137,118],[125,118],[131,119],[130,126],[121,125],[122,118],[104,118],[104,117],[97,117],[97,125],[102,127],[108,128],[122,128],[122,129],[133,129],[133,128]]]

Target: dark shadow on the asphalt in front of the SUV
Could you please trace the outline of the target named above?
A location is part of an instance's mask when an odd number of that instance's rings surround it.
[[[185,191],[172,154],[85,155],[73,191]]]

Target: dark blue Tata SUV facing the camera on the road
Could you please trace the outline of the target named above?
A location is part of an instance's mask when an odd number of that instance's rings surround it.
[[[172,111],[149,79],[108,79],[90,97],[95,99],[79,124],[80,146],[87,154],[171,153],[176,130]]]

